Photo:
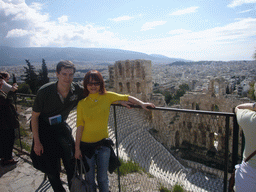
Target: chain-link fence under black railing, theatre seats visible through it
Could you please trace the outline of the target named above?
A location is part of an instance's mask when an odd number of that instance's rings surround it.
[[[75,136],[76,111],[67,123]],[[110,190],[226,191],[228,171],[241,159],[239,133],[233,113],[114,105],[109,136],[122,165],[109,174]]]

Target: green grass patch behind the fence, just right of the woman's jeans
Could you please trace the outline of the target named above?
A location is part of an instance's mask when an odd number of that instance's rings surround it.
[[[143,172],[143,169],[135,162],[129,160],[127,162],[120,159],[121,166],[119,167],[119,172],[121,176],[127,175],[134,172]],[[117,171],[117,170],[116,170]]]

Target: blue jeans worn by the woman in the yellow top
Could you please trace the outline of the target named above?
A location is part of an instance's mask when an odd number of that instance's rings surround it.
[[[109,181],[108,181],[108,164],[110,157],[110,148],[101,146],[95,150],[95,154],[91,159],[84,156],[90,167],[87,172],[91,190],[96,192],[95,183],[95,165],[97,165],[97,182],[100,192],[109,192]]]

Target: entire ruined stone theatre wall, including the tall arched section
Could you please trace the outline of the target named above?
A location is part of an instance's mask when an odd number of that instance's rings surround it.
[[[109,67],[110,86],[118,93],[127,93],[141,100],[166,107],[162,94],[152,93],[151,61],[117,61]],[[236,105],[250,102],[248,98],[226,94],[227,82],[223,78],[212,79],[204,93],[187,92],[180,98],[181,109],[233,112]],[[167,149],[193,147],[196,152],[208,158],[214,154],[222,161],[225,149],[224,116],[198,115],[173,111],[152,111],[151,123],[154,137]],[[230,144],[232,150],[233,119],[230,118]],[[240,130],[241,134],[241,130]],[[241,140],[239,141],[241,151]]]

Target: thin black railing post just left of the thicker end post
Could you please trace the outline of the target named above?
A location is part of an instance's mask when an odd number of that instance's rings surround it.
[[[226,135],[225,135],[225,162],[224,162],[224,189],[227,191],[228,184],[228,153],[229,153],[229,116],[226,116]]]

